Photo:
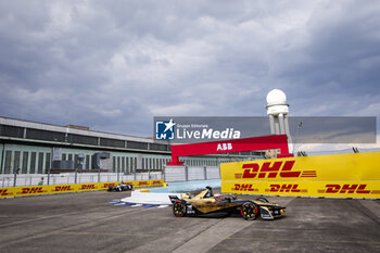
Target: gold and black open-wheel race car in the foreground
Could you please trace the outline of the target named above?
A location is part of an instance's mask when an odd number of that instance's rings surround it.
[[[255,201],[239,200],[233,194],[213,194],[213,189],[206,187],[197,195],[185,193],[179,199],[169,195],[173,203],[173,213],[177,217],[182,216],[206,216],[210,214],[231,215],[240,213],[244,219],[275,219],[286,213],[286,207],[269,203],[265,198]]]

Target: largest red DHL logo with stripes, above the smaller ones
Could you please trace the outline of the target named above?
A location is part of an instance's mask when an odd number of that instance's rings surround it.
[[[258,163],[243,164],[243,173],[236,174],[237,179],[240,178],[297,178],[297,177],[317,177],[316,170],[293,172],[295,161],[266,162],[259,166]]]

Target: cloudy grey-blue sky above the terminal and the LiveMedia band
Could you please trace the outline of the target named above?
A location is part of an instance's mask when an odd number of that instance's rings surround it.
[[[380,116],[380,1],[0,1],[0,115],[152,136],[153,116]],[[378,121],[379,124],[379,121]]]

